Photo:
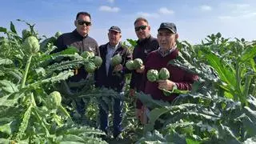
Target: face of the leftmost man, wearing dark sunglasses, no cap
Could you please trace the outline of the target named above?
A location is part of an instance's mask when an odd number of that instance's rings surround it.
[[[77,27],[77,31],[83,37],[90,31],[90,17],[88,15],[80,14],[78,19],[74,21],[74,25]]]

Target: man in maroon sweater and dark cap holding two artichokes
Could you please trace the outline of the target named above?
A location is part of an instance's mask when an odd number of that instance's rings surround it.
[[[198,80],[198,75],[190,74],[186,70],[168,64],[170,60],[178,57],[178,48],[176,41],[178,39],[177,29],[174,23],[163,22],[158,29],[159,49],[151,52],[146,58],[145,73],[143,75],[142,91],[150,94],[156,100],[172,102],[178,94],[166,96],[162,89],[173,90],[190,90],[192,83]],[[170,73],[167,80],[158,80],[158,82],[150,82],[146,78],[148,70],[161,70],[166,67]],[[138,102],[137,109],[142,109],[142,102]],[[143,112],[143,111],[142,111]],[[141,113],[142,114],[142,113]]]

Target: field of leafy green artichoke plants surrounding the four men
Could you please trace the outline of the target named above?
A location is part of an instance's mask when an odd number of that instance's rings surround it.
[[[118,95],[95,88],[96,58],[74,47],[51,54],[59,33],[46,38],[25,23],[28,28],[22,34],[12,22],[10,29],[0,27],[0,143],[256,143],[256,41],[218,33],[198,45],[178,42],[179,57],[170,65],[198,74],[199,81],[171,104],[137,93],[152,109],[145,126],[135,118],[134,98],[126,85],[122,142],[104,141],[98,105],[107,103],[111,110]],[[132,50],[135,41],[122,44]],[[90,77],[67,83],[81,66]],[[126,79],[129,83],[130,74]],[[78,101],[86,105],[83,115],[75,109]]]

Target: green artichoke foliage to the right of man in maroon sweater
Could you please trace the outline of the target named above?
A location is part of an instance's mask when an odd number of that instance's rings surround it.
[[[171,104],[137,94],[151,109],[140,142],[254,141],[256,47],[244,39],[232,42],[221,34],[207,37],[201,45],[178,42],[179,56],[170,61],[170,65],[198,74],[199,81],[189,94],[180,94]],[[156,128],[162,137],[150,140],[146,134]]]

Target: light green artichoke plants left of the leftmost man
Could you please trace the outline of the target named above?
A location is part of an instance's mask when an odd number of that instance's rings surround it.
[[[28,26],[33,38],[40,41],[34,25]],[[32,46],[33,42],[25,40],[26,48],[37,48],[27,55],[13,23],[10,29],[2,29],[6,38],[0,43],[0,143],[106,143],[98,138],[102,131],[75,125],[60,94],[51,93],[56,83],[74,75],[72,69],[93,61],[78,55],[76,48],[50,54],[52,43],[38,51],[38,43]]]

